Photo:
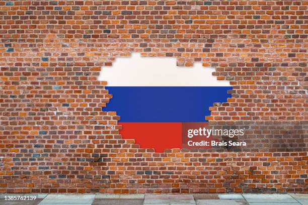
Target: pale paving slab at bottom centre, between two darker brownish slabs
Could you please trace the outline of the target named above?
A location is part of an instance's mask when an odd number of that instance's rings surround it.
[[[192,194],[145,194],[144,203],[194,203]]]

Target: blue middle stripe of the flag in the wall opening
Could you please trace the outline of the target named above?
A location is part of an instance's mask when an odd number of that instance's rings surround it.
[[[120,122],[204,122],[214,102],[225,102],[230,86],[106,86],[113,95],[103,111],[117,112]]]

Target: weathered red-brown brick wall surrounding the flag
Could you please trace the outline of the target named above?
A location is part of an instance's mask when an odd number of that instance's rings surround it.
[[[0,192],[308,192],[307,1],[0,1]],[[212,125],[303,125],[290,152],[155,153],[97,80],[118,56],[213,66]],[[145,136],[146,137],[146,136]]]

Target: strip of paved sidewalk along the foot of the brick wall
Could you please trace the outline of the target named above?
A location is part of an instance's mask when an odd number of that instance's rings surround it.
[[[36,196],[6,200],[5,196]],[[308,194],[0,194],[5,205],[308,205]]]

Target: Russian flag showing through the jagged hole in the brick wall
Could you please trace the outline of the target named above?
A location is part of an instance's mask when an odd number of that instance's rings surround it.
[[[118,125],[124,139],[135,139],[140,148],[181,148],[182,123],[206,122],[213,102],[225,102],[232,89],[226,81],[212,76],[213,69],[195,63],[176,66],[170,57],[118,59],[103,67],[100,80],[112,98],[106,112],[120,116]]]

